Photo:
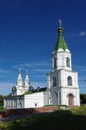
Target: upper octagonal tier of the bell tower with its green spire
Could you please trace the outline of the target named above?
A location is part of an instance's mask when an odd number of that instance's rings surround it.
[[[56,41],[55,50],[52,53],[52,71],[60,69],[72,70],[71,53],[63,37],[63,27],[61,20],[59,20],[59,25],[58,39]]]

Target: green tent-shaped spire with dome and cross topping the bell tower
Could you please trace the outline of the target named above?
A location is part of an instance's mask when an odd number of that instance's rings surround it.
[[[66,44],[66,42],[64,40],[64,37],[62,35],[63,27],[61,26],[61,24],[62,24],[61,20],[59,20],[59,24],[60,24],[60,26],[58,28],[58,39],[56,41],[55,50],[58,50],[60,48],[65,50],[65,49],[68,49],[68,46],[67,46],[67,44]]]

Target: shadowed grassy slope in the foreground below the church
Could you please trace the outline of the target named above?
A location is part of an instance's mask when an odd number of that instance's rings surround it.
[[[83,112],[81,112],[83,111]],[[0,130],[83,130],[86,129],[86,106],[70,111],[58,110],[31,115],[26,119],[0,122]]]

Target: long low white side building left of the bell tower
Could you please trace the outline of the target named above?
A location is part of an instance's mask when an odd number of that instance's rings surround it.
[[[5,109],[34,108],[48,104],[47,92],[38,92],[29,95],[19,95],[4,100]]]

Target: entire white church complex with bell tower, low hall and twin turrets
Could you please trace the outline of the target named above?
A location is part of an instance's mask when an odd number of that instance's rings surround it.
[[[46,90],[28,94],[27,92],[30,91],[28,71],[23,83],[19,70],[16,85],[12,87],[12,96],[4,99],[5,109],[45,105],[80,106],[78,73],[72,70],[71,52],[63,37],[61,20],[59,20],[58,37],[51,58],[52,70],[47,74]]]

